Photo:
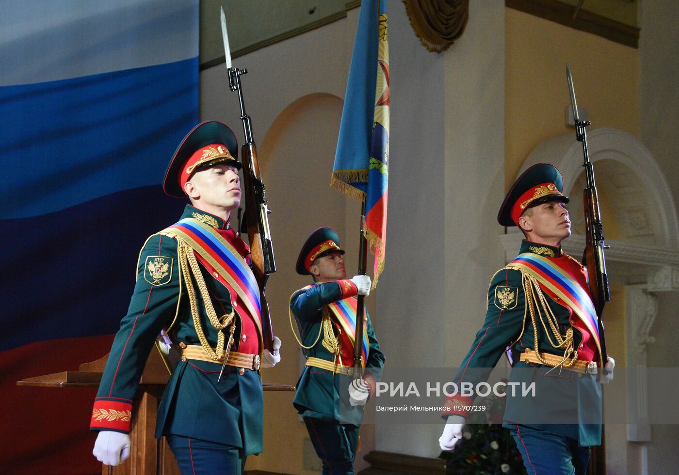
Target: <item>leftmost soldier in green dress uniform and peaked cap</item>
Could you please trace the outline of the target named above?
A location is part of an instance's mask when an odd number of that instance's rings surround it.
[[[90,427],[99,431],[93,453],[107,465],[130,453],[132,399],[158,335],[166,341],[159,348],[181,352],[155,430],[156,438],[167,436],[181,473],[240,474],[245,457],[262,451],[259,368],[280,361],[280,339],[273,352],[263,350],[249,247],[230,226],[241,199],[237,158],[232,130],[208,121],[170,161],[164,190],[191,204],[139,254],[130,308],[92,411]]]

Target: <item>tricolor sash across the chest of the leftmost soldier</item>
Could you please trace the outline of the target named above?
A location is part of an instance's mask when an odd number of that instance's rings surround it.
[[[261,336],[261,303],[255,274],[245,261],[212,226],[194,218],[184,218],[161,231],[179,236],[224,278],[253,316]]]

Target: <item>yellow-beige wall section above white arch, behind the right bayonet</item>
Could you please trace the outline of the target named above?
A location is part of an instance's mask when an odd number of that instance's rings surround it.
[[[505,189],[538,143],[563,133],[575,138],[566,125],[566,64],[591,127],[638,136],[637,49],[507,8],[505,54]]]

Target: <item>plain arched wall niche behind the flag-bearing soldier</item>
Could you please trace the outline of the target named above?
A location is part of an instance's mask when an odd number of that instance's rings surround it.
[[[277,267],[269,278],[266,293],[274,334],[283,342],[281,363],[273,370],[264,370],[268,381],[294,384],[304,368],[304,357],[293,337],[288,312],[291,294],[312,282],[309,276],[295,272],[297,255],[308,235],[320,226],[334,228],[346,250],[346,269],[350,276],[358,264],[361,205],[330,187],[343,106],[344,101],[333,94],[298,97],[278,112],[259,139],[259,167],[272,209],[269,224]],[[266,466],[271,468],[277,466],[276,462],[266,457],[278,454],[291,457],[299,465],[287,465],[288,471],[301,473],[304,471],[302,454],[314,453],[314,449],[308,442],[304,424],[293,410],[292,397],[287,394],[265,396],[268,397],[264,416],[268,449],[260,457],[251,458],[262,459],[261,463],[267,460]],[[286,421],[287,426],[276,426],[278,421]],[[276,431],[272,431],[272,427]],[[285,438],[277,435],[267,438],[271,434],[267,431],[280,434],[280,430],[286,431]],[[364,438],[363,431],[361,435]],[[363,443],[365,447],[365,438]]]

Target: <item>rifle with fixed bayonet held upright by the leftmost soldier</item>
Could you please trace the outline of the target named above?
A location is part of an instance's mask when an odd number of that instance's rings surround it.
[[[264,348],[274,353],[274,333],[271,325],[269,304],[266,301],[264,293],[269,274],[276,272],[274,247],[271,242],[271,232],[269,230],[268,220],[268,214],[271,213],[271,211],[267,206],[264,184],[262,183],[261,173],[259,172],[257,145],[253,138],[252,123],[250,116],[245,112],[243,91],[240,86],[240,76],[247,74],[248,70],[234,68],[231,64],[229,37],[227,35],[226,16],[224,15],[223,8],[221,8],[221,33],[224,41],[226,68],[229,73],[229,89],[238,93],[240,119],[243,123],[243,131],[245,134],[245,142],[241,148],[243,182],[245,186],[245,223],[248,230],[248,239],[250,241],[253,274],[255,274],[255,279],[259,285],[262,331],[264,337],[263,344]]]

